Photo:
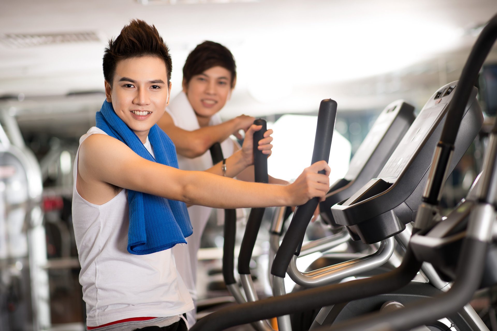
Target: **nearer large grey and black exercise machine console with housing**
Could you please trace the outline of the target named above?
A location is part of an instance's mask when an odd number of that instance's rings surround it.
[[[446,91],[452,87],[452,92]],[[433,93],[417,115],[411,128],[378,175],[354,196],[331,207],[336,223],[346,225],[365,244],[389,238],[414,221],[421,203],[433,150],[439,141],[448,105],[457,81]],[[438,92],[441,96],[436,97]],[[473,87],[467,103],[447,176],[464,155],[483,124],[483,114]],[[378,184],[383,185],[378,185]]]

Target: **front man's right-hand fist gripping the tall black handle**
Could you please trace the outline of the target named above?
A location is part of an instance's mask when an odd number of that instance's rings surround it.
[[[325,170],[325,174],[318,171]],[[330,166],[326,161],[318,161],[304,169],[295,182],[286,186],[289,190],[289,205],[302,205],[312,198],[324,201],[330,190]]]

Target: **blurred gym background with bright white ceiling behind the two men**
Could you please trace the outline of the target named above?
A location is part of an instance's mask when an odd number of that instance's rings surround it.
[[[292,179],[308,166],[310,156],[295,153],[310,155],[320,101],[334,99],[340,135],[333,138],[332,182],[385,106],[404,99],[419,111],[458,79],[496,13],[496,0],[1,0],[0,331],[85,329],[71,219],[73,162],[104,100],[103,50],[130,19],[154,24],[168,44],[172,96],[197,44],[212,40],[232,51],[237,85],[221,116],[268,121],[275,177]],[[497,47],[478,85],[491,123]],[[477,175],[485,128],[448,180],[446,207]],[[254,259],[267,260],[265,239]],[[222,232],[215,222],[202,245],[200,270],[219,267]],[[216,278],[200,286],[205,298],[223,290]]]

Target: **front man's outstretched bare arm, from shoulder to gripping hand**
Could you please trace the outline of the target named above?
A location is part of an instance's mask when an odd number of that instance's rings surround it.
[[[317,173],[323,169],[327,175]],[[78,190],[90,202],[95,188],[108,183],[190,204],[241,208],[297,205],[313,197],[324,199],[330,168],[326,162],[318,162],[288,186],[247,183],[148,161],[117,139],[93,134],[81,145],[78,172],[82,178]]]

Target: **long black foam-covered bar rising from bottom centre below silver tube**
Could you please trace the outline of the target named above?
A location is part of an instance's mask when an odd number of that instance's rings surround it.
[[[263,319],[389,293],[406,286],[420,266],[421,263],[408,248],[402,264],[390,272],[223,308],[199,320],[190,331],[220,331]]]

